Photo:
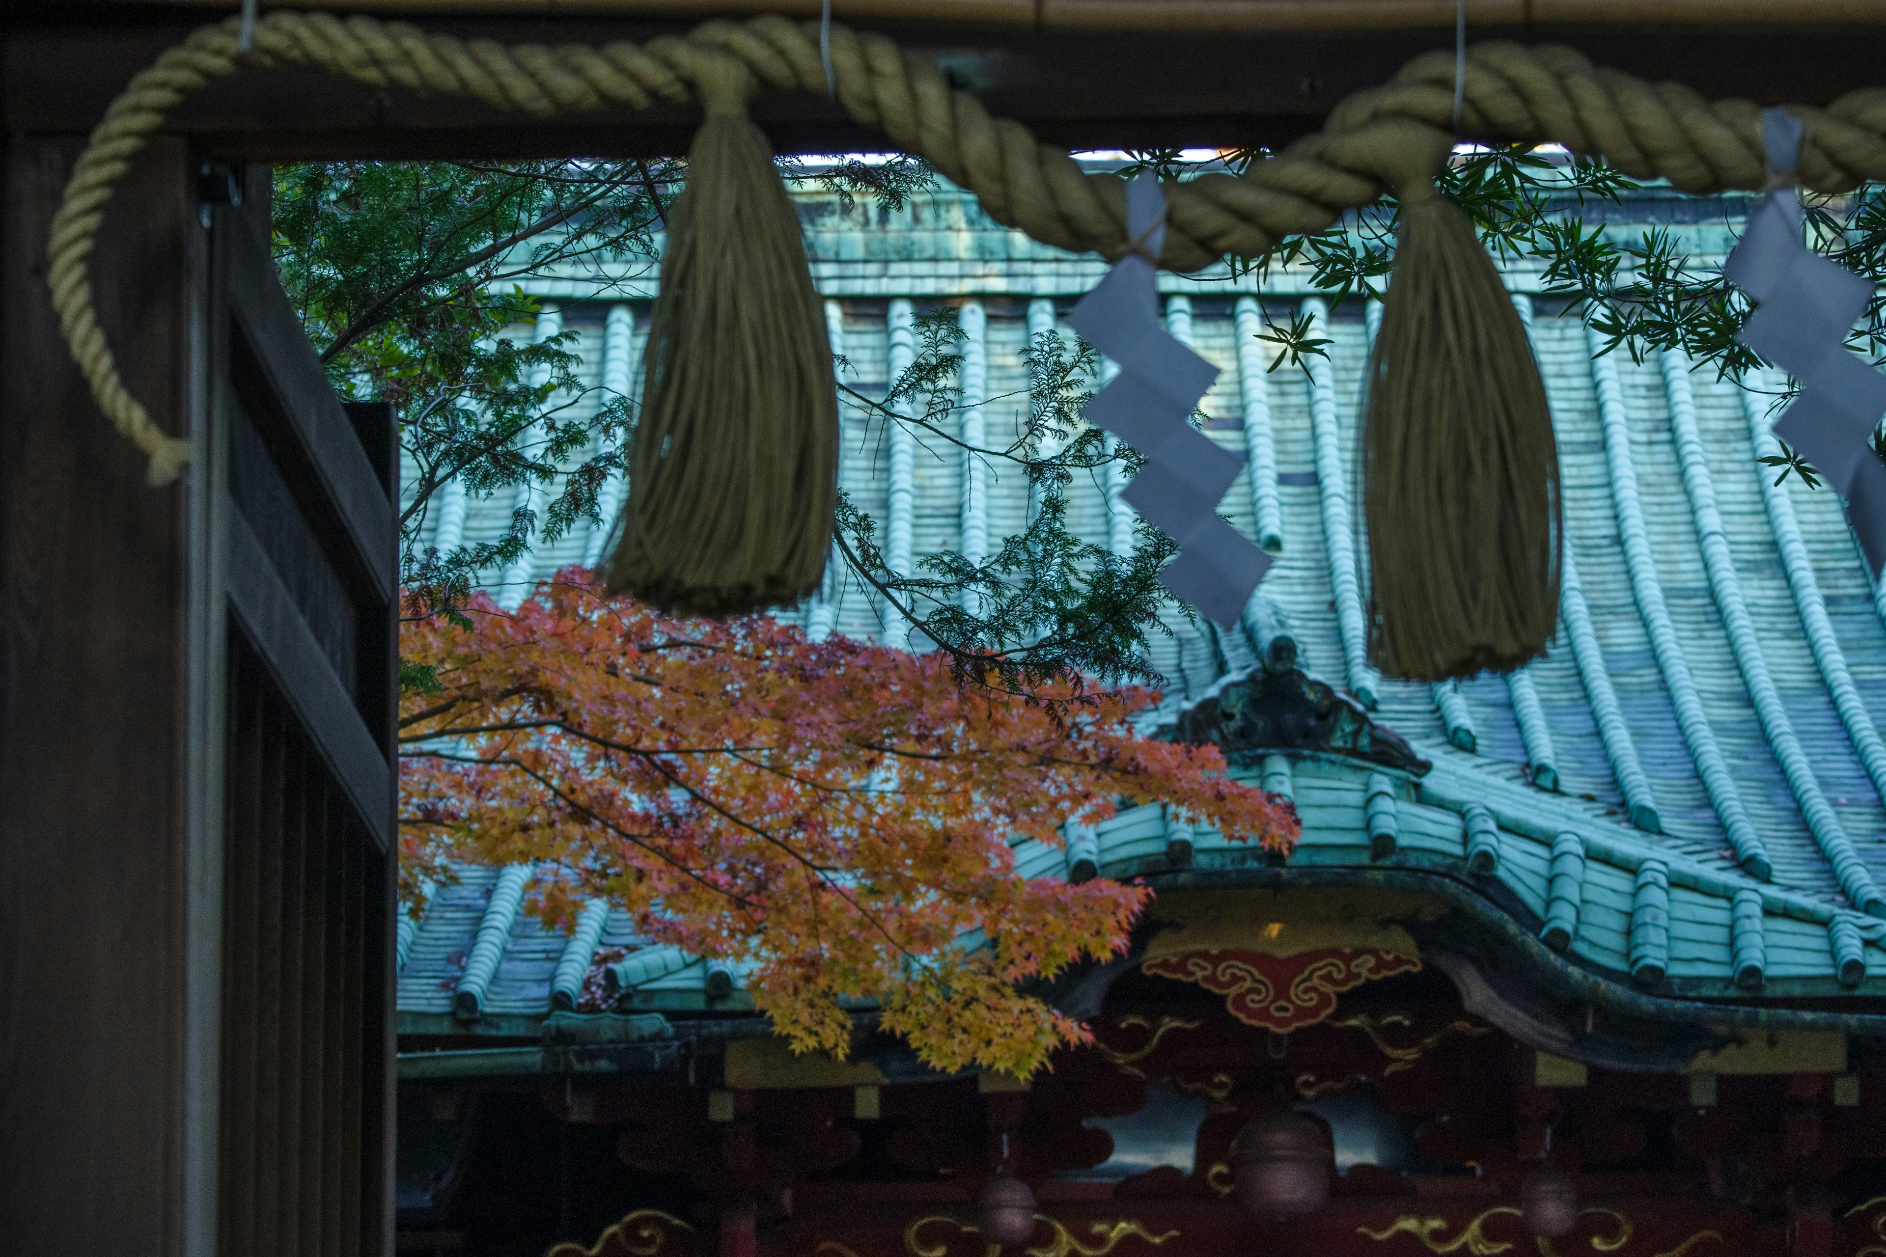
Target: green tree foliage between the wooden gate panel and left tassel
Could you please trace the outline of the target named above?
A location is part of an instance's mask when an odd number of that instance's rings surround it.
[[[596,518],[632,415],[585,386],[571,334],[541,343],[526,275],[651,260],[681,168],[658,162],[336,162],[275,171],[273,251],[283,286],[343,398],[390,401],[417,477],[402,486],[400,580],[417,614],[464,603],[481,571]],[[421,547],[438,490],[473,498],[562,488],[496,541]]]

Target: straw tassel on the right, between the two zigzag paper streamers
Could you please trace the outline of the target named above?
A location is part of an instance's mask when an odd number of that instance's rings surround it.
[[[1362,432],[1373,663],[1448,680],[1513,671],[1558,624],[1558,449],[1545,384],[1473,224],[1422,183]]]

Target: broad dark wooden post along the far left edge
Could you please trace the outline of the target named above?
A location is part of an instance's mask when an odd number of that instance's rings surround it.
[[[145,484],[58,334],[45,232],[75,147],[0,151],[0,1249],[179,1253],[200,873],[187,490]],[[181,141],[147,149],[91,258],[124,383],[170,432],[189,379],[187,170]]]

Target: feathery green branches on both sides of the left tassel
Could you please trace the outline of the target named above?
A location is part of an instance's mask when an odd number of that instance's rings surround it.
[[[858,198],[896,211],[934,187],[930,168],[905,156],[822,168],[786,158],[781,173],[835,192],[841,213]],[[538,341],[539,307],[521,283],[558,269],[634,275],[653,266],[654,232],[685,175],[677,162],[338,162],[277,171],[281,281],[336,390],[390,401],[417,467],[400,514],[409,616],[462,622],[481,577],[598,520],[598,494],[620,473],[636,416],[613,394],[579,407],[587,386],[573,334]],[[926,315],[917,360],[888,398],[847,398],[877,418],[879,435],[900,422],[926,449],[960,445],[949,432],[960,405],[960,335],[949,313]],[[1135,554],[1118,558],[1066,526],[1075,477],[1100,475],[1117,458],[1137,464],[1137,454],[1113,449],[1079,418],[1098,373],[1090,349],[1051,334],[1032,347],[1030,369],[1035,388],[1013,400],[1028,407],[1024,433],[1007,449],[977,450],[1026,469],[1035,511],[1024,533],[1001,539],[981,563],[939,554],[918,573],[890,573],[873,520],[843,503],[839,554],[922,624],[962,680],[1026,694],[1083,673],[1152,678],[1143,639],[1160,631],[1166,596],[1154,577],[1171,543],[1141,526]],[[579,418],[583,409],[594,413]],[[453,477],[481,499],[541,484],[541,518],[521,509],[498,539],[443,552],[422,545],[426,514]],[[419,667],[402,667],[400,680],[417,694],[438,686]]]

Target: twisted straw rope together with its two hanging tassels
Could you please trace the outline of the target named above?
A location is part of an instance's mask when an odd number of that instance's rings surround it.
[[[835,96],[862,126],[930,160],[1005,226],[1118,260],[1126,187],[1084,171],[951,87],[932,60],[839,24],[754,17],[598,47],[468,45],[366,15],[275,9],[202,26],[138,72],[72,168],[47,236],[47,288],[92,398],[168,484],[190,456],[119,375],[92,307],[89,258],[104,205],[170,111],[207,83],[307,66],[373,89],[468,96],[538,117],[639,111],[694,90],[707,121],[675,205],[630,505],[607,575],[671,611],[734,612],[819,588],[832,531],[837,401],[790,200],[747,96]],[[1845,192],[1886,179],[1886,90],[1801,119],[1801,183]],[[1471,224],[1433,192],[1465,130],[1560,143],[1631,179],[1684,192],[1763,187],[1762,115],[1679,85],[1599,70],[1567,47],[1481,43],[1424,53],[1343,100],[1322,132],[1241,175],[1167,187],[1160,266],[1256,258],[1398,190],[1403,234],[1371,364],[1364,490],[1373,550],[1373,654],[1439,680],[1511,669],[1545,650],[1558,601],[1558,462],[1537,366]]]

